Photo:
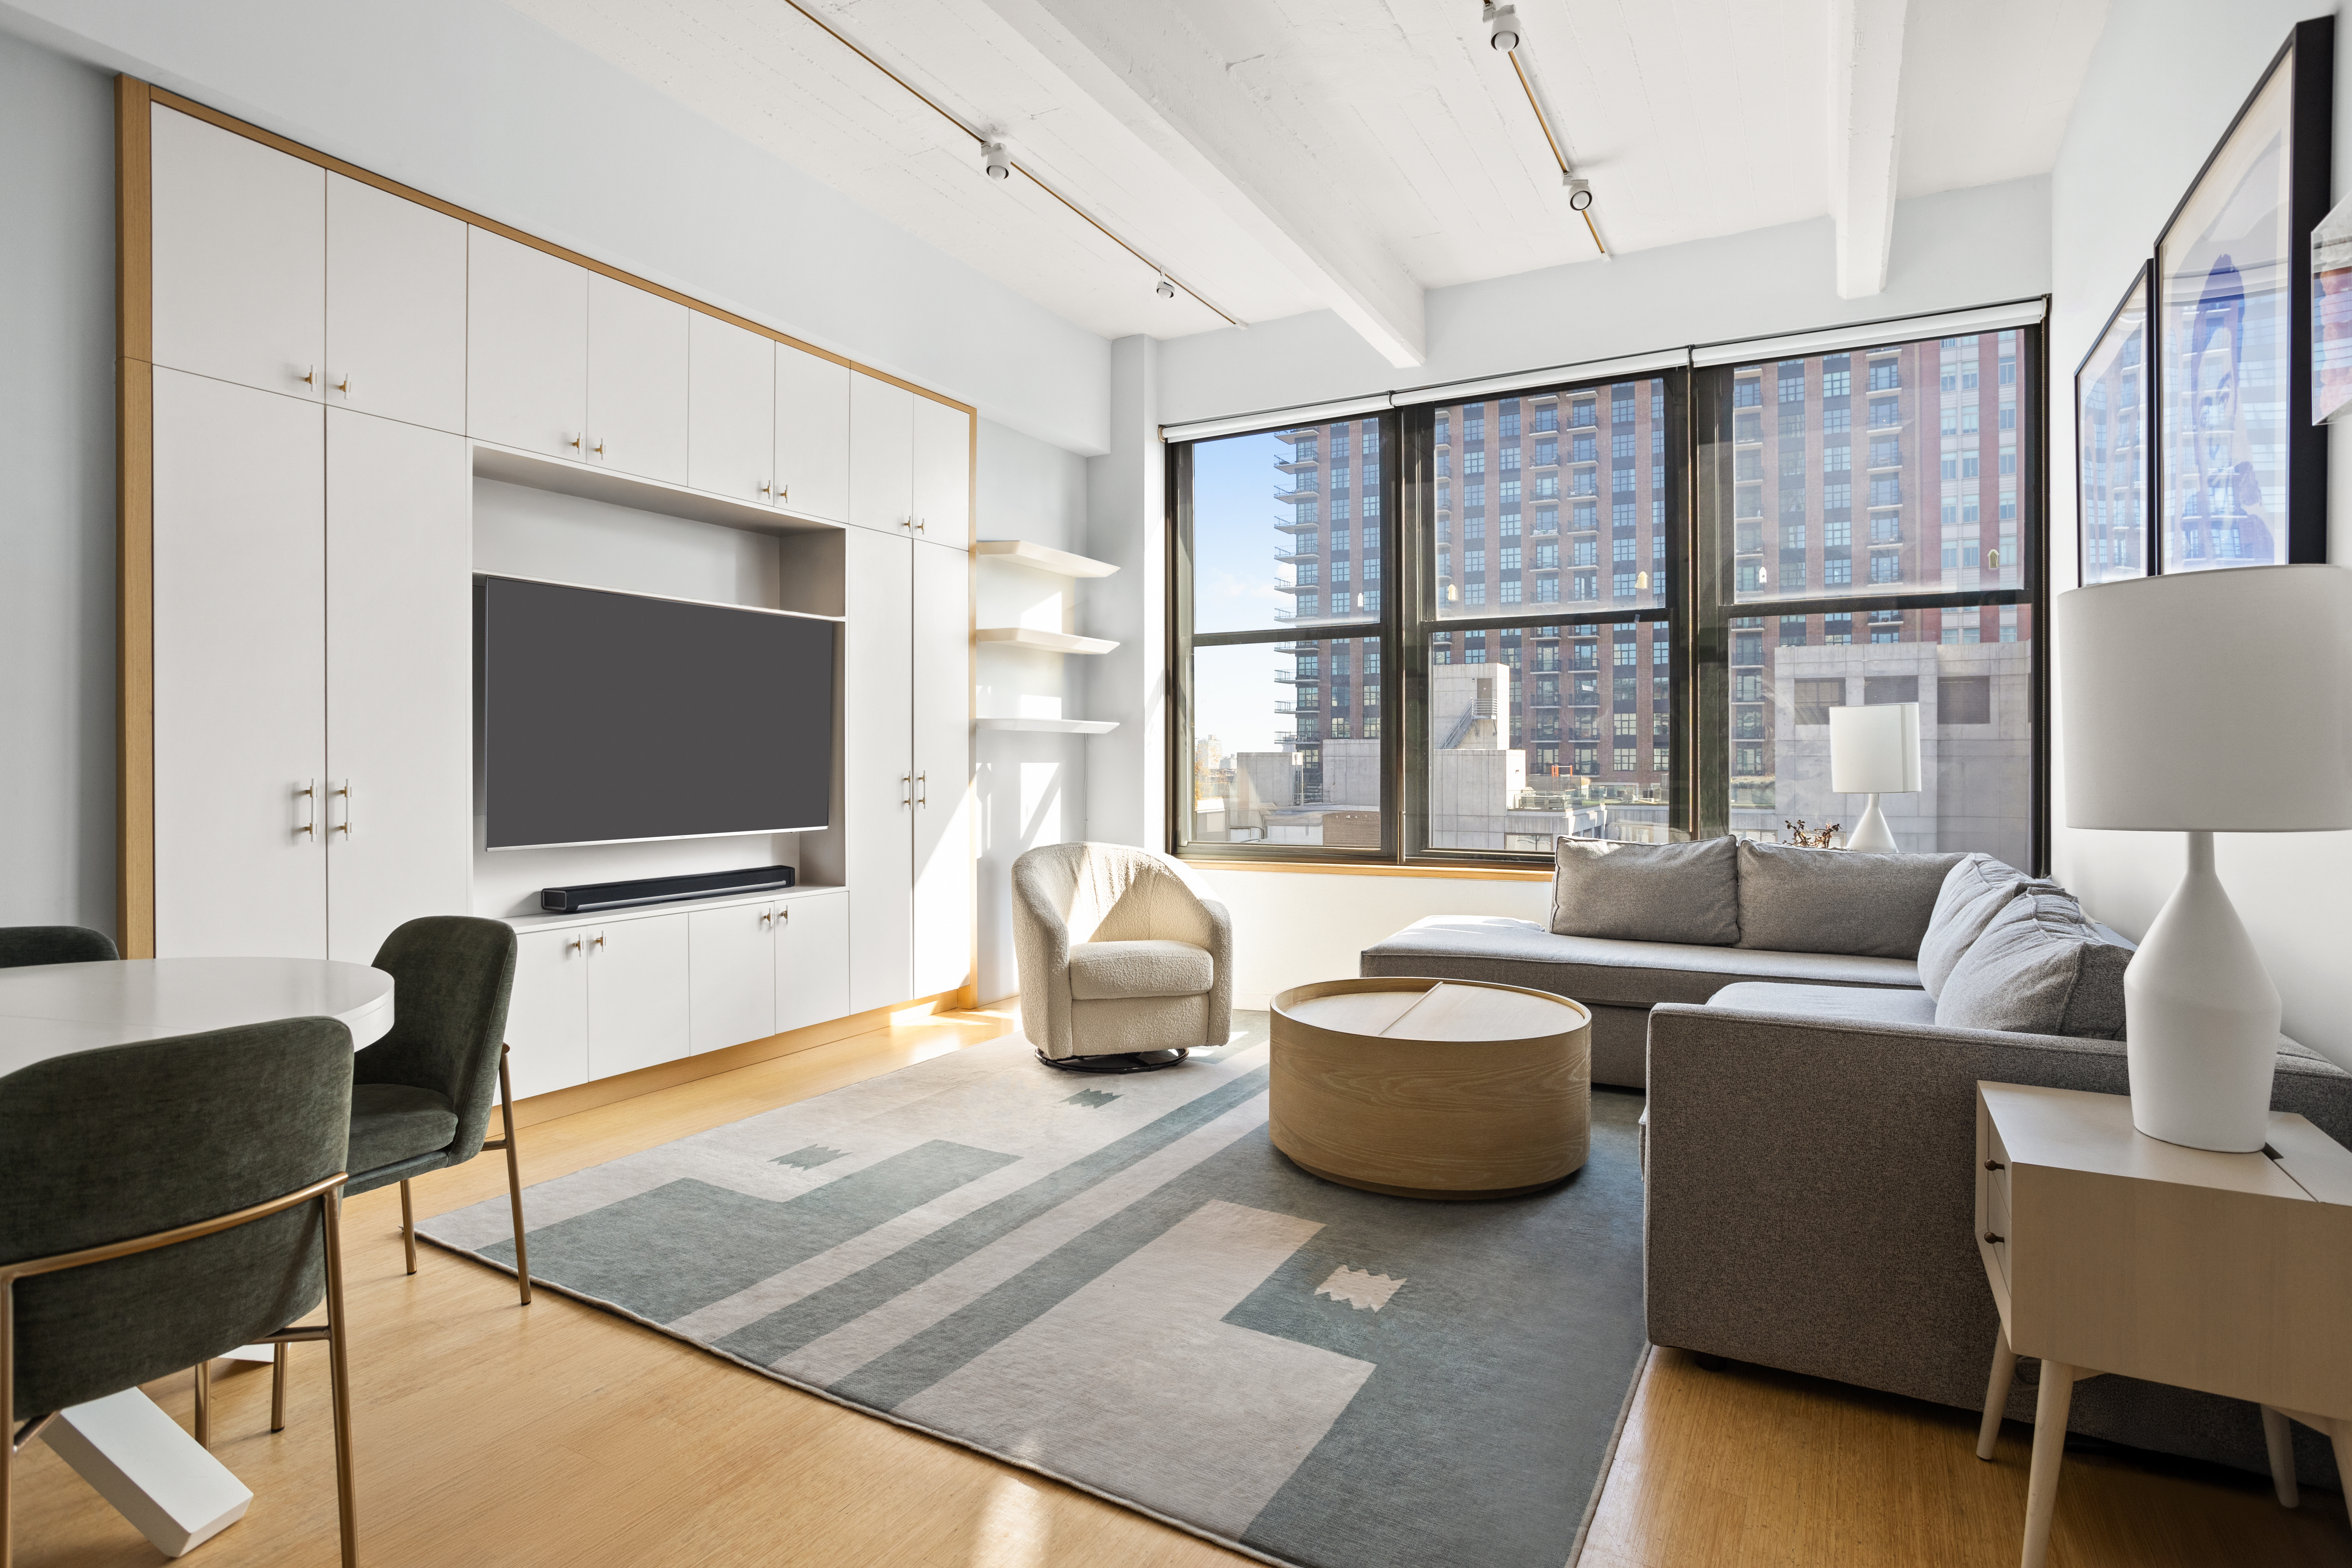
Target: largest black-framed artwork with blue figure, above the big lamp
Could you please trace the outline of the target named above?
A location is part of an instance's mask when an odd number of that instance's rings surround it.
[[[2298,24],[2157,240],[2159,571],[2326,559],[2307,256],[2333,78],[2336,21]]]

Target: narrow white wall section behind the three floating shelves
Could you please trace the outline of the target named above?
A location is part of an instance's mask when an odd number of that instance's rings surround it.
[[[974,538],[1025,538],[1087,552],[1087,458],[981,421]],[[1065,578],[997,557],[974,562],[976,625],[1082,630],[1094,578]],[[1084,719],[1089,661],[1007,644],[976,651],[976,717]],[[1021,851],[1087,837],[1087,736],[1009,729],[974,733],[981,811],[978,919],[983,1001],[1021,990],[1011,936],[1011,867]]]

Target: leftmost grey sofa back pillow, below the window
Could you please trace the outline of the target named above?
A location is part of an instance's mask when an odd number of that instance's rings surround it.
[[[1635,943],[1740,940],[1740,872],[1731,839],[1616,844],[1557,839],[1552,931]]]

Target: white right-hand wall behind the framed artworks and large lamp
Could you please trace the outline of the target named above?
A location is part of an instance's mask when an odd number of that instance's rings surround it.
[[[2352,47],[2343,12],[2296,0],[2234,0],[2227,26],[2199,0],[2117,5],[2091,56],[2051,172],[2051,588],[2074,585],[2074,364],[2091,348],[2133,268],[2187,190],[2288,28],[2336,14],[2338,59]],[[2336,85],[2336,167],[2352,155],[2347,85]],[[2345,181],[2338,174],[2338,193]],[[2352,444],[2328,449],[2328,559],[2352,564]],[[2183,766],[2227,769],[2216,736]],[[2258,752],[2260,745],[2253,743]],[[2056,872],[2107,924],[2143,936],[2187,863],[2180,835],[2065,827],[2065,712],[2056,715]],[[2260,769],[2258,757],[2246,766]],[[2220,835],[2223,884],[2286,1004],[2286,1032],[2352,1067],[2352,832]]]

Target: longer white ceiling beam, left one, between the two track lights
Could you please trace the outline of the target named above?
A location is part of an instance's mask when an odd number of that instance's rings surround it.
[[[1383,360],[1428,360],[1421,282],[1178,7],[983,0]]]

